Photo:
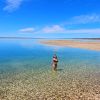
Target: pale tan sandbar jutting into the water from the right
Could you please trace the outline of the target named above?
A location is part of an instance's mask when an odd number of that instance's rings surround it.
[[[78,41],[76,40],[41,40],[46,45],[67,46],[100,51],[100,41]]]

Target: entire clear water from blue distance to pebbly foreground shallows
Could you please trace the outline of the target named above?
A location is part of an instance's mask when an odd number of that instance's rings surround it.
[[[51,70],[52,56],[59,59]],[[0,100],[100,100],[100,52],[0,40]]]

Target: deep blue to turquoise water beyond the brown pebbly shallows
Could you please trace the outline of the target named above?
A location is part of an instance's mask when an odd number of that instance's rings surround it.
[[[0,73],[23,70],[50,70],[52,56],[59,58],[59,69],[82,66],[100,67],[100,52],[78,48],[45,46],[38,40],[0,40]]]

